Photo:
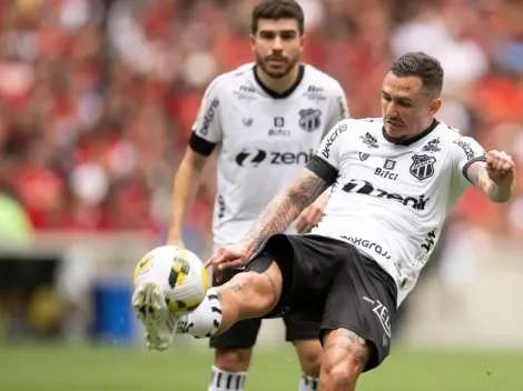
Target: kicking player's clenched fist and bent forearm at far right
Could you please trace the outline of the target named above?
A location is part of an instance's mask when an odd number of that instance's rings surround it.
[[[466,176],[489,199],[503,203],[512,198],[515,187],[515,166],[505,152],[491,151],[486,162],[472,163]]]

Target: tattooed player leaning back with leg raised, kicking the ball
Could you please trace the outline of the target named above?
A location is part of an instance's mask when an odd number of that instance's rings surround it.
[[[343,120],[315,158],[238,243],[207,262],[219,288],[177,330],[218,335],[237,321],[289,313],[322,322],[319,389],[355,390],[391,348],[394,313],[416,284],[443,222],[474,184],[493,202],[514,192],[514,162],[436,120],[443,69],[422,52],[399,58],[382,88],[381,119]],[[282,234],[333,186],[312,234]]]

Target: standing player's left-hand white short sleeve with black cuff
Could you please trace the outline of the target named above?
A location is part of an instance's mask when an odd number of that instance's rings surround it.
[[[220,104],[218,79],[215,79],[201,99],[198,116],[193,124],[189,144],[196,152],[208,156],[221,141]]]

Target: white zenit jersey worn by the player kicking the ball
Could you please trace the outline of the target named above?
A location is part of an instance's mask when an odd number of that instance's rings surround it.
[[[397,304],[414,288],[443,222],[471,186],[465,172],[485,151],[434,121],[394,143],[381,119],[344,120],[325,137],[310,166],[334,180],[325,217],[313,233],[345,240],[396,282]],[[315,170],[316,171],[316,170]]]

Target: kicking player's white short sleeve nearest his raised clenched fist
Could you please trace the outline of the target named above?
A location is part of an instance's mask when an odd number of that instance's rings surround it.
[[[486,161],[486,153],[473,138],[460,137],[452,141],[452,158],[456,180],[462,188],[466,189],[471,184],[466,177],[468,167],[476,161]]]

